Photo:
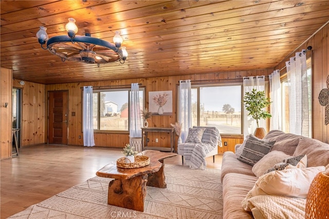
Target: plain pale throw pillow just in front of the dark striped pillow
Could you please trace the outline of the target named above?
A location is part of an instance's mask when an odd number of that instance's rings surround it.
[[[252,172],[255,176],[260,177],[265,174],[266,170],[288,157],[290,156],[282,151],[270,151],[268,154],[265,154],[259,162],[253,165]]]

